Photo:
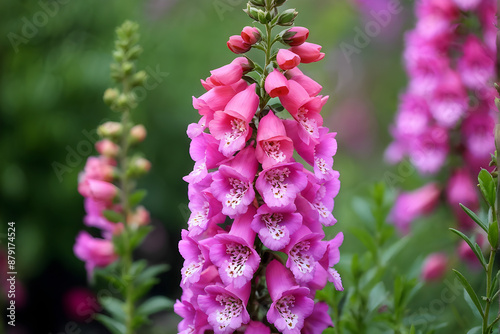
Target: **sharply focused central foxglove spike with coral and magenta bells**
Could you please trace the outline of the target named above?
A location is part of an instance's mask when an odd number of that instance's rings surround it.
[[[264,51],[264,66],[236,58],[211,71],[201,81],[207,92],[193,98],[202,117],[187,131],[195,165],[184,178],[191,216],[179,242],[180,333],[320,333],[333,325],[314,298],[328,281],[343,289],[333,268],[343,234],[323,240],[323,226],[336,223],[337,143],[320,114],[328,97],[297,68],[324,54],[305,42],[306,28],[272,34],[297,15],[280,14],[284,2],[250,1],[246,13],[265,33],[245,27],[228,42],[237,54]]]

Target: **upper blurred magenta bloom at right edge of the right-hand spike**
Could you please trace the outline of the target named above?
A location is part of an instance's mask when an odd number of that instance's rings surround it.
[[[458,73],[470,89],[481,89],[495,76],[495,60],[479,38],[470,35],[463,45],[463,56],[458,61]]]

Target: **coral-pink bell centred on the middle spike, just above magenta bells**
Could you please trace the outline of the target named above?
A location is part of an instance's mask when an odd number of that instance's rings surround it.
[[[283,121],[272,110],[259,122],[255,155],[264,169],[293,158],[292,140],[287,136]]]

